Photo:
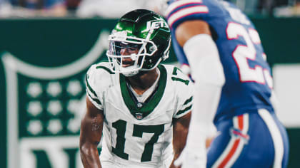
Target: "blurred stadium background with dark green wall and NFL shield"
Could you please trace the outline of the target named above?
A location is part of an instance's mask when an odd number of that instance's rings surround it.
[[[233,2],[259,31],[289,133],[289,168],[300,167],[300,1]],[[106,59],[116,18],[153,3],[0,0],[0,167],[82,167],[86,70]],[[174,52],[167,62],[176,63]]]

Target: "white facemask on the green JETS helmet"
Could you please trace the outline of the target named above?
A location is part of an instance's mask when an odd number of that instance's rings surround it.
[[[109,50],[106,56],[114,73],[122,73],[129,77],[139,73],[139,70],[144,70],[142,67],[145,57],[153,56],[156,51],[157,46],[148,38],[127,36],[126,31],[113,31],[109,36]]]

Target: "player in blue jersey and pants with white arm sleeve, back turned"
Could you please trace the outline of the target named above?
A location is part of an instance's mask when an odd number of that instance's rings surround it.
[[[274,112],[270,67],[253,23],[217,0],[171,0],[164,16],[181,69],[196,88],[188,140],[176,164],[286,167],[289,142]],[[210,122],[219,134],[206,152]]]

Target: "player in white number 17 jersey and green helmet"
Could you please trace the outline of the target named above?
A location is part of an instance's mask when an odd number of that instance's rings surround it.
[[[131,11],[116,24],[109,63],[86,74],[84,167],[174,167],[186,143],[194,86],[174,65],[160,64],[170,43],[169,26],[152,11]]]

